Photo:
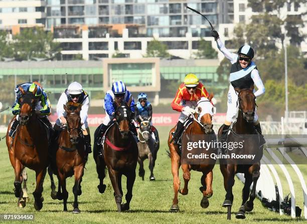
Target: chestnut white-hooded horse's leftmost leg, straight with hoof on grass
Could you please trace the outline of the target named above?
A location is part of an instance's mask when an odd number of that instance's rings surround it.
[[[174,199],[173,199],[173,205],[171,206],[171,211],[179,211],[178,191],[180,188],[180,179],[179,179],[180,156],[178,154],[173,156],[171,155],[171,163],[172,163],[172,174],[174,178],[173,179]]]

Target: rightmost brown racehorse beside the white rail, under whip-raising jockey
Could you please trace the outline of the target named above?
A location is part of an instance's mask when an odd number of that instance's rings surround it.
[[[243,147],[236,148],[235,151],[227,150],[225,154],[233,153],[237,155],[256,155],[253,161],[238,161],[235,159],[220,159],[220,169],[224,177],[224,188],[226,190],[223,207],[228,208],[227,219],[231,219],[231,206],[233,202],[232,187],[234,185],[235,173],[244,173],[245,183],[242,190],[242,204],[236,213],[236,218],[245,218],[245,211],[253,209],[253,200],[256,197],[256,184],[260,176],[260,159],[262,150],[259,150],[259,137],[254,128],[254,112],[256,107],[253,86],[250,89],[235,89],[238,92],[239,112],[233,129],[227,137],[228,142],[244,141]],[[222,127],[219,129],[219,137]],[[238,164],[239,163],[239,164]],[[244,164],[242,164],[244,163]],[[252,163],[252,164],[250,164]],[[250,164],[250,165],[248,165]],[[250,185],[253,182],[251,192]],[[249,197],[249,201],[247,201]]]

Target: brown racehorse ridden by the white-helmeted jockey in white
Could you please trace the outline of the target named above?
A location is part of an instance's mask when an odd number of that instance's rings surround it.
[[[64,105],[64,110],[67,113],[67,128],[62,131],[58,139],[58,149],[56,152],[56,167],[59,184],[57,197],[63,198],[64,211],[67,211],[68,192],[66,190],[66,178],[72,175],[75,176],[75,184],[73,186],[73,193],[75,200],[73,203],[73,213],[80,213],[78,208],[78,195],[81,195],[81,181],[85,166],[85,145],[81,138],[81,106],[69,107]]]

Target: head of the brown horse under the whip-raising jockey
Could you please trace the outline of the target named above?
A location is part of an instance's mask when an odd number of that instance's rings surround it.
[[[254,85],[249,89],[235,88],[235,91],[238,93],[239,111],[242,112],[243,118],[249,123],[254,122],[256,108],[256,97],[253,90]]]

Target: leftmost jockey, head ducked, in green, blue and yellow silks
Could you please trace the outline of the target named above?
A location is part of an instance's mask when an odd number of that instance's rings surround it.
[[[19,87],[22,87],[25,92],[33,92],[35,90],[35,87],[37,87],[37,91],[35,94],[35,99],[36,99],[35,113],[39,116],[40,120],[43,121],[43,123],[48,126],[49,131],[50,131],[50,129],[52,129],[52,125],[46,116],[49,116],[51,114],[50,113],[51,109],[50,109],[50,101],[48,100],[46,92],[43,90],[42,85],[38,82],[23,83],[23,84],[17,85],[15,88],[16,101],[12,107],[12,113],[13,115],[17,115],[17,116],[16,116],[16,120],[13,122],[11,126],[9,136],[10,137],[13,136],[13,133],[15,132],[19,124],[19,120],[20,120],[19,118],[19,113],[20,113],[19,99],[22,96],[22,92],[19,90]]]

